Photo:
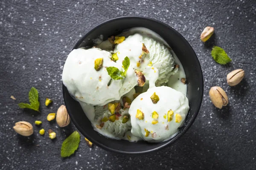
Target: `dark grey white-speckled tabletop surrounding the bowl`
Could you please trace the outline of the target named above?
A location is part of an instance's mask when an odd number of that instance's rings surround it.
[[[77,152],[60,156],[61,143],[76,127],[60,129],[48,113],[63,104],[61,73],[65,59],[79,38],[93,26],[113,17],[152,17],[179,31],[192,45],[204,74],[204,99],[195,123],[172,146],[143,156],[90,149],[81,137]],[[200,41],[206,26],[215,28],[211,42]],[[256,1],[255,0],[1,0],[0,2],[0,169],[256,169]],[[218,65],[212,44],[227,51],[233,61]],[[226,75],[242,68],[246,76],[235,87]],[[221,86],[230,103],[219,110],[209,100],[211,86]],[[23,111],[32,86],[38,89],[41,113]],[[10,99],[13,95],[17,100]],[[53,99],[44,106],[46,97]],[[51,128],[57,139],[41,127]],[[17,135],[15,122],[33,123],[31,137]]]

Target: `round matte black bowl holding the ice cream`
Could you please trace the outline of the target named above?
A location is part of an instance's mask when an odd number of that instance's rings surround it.
[[[162,23],[158,20],[154,20],[148,17],[118,17],[105,21],[98,26],[92,28],[76,43],[75,47],[93,46],[93,39],[96,39],[99,35],[104,36],[106,40],[111,35],[117,35],[123,30],[133,27],[145,27],[163,37],[164,40],[170,45],[186,73],[187,81],[187,97],[189,99],[189,113],[186,117],[185,123],[180,127],[179,133],[172,139],[161,143],[148,143],[145,141],[128,142],[125,140],[109,139],[100,135],[93,130],[93,127],[85,116],[79,102],[76,102],[67,91],[67,88],[63,85],[64,102],[67,107],[67,111],[77,129],[91,142],[101,147],[102,149],[113,151],[116,153],[125,154],[143,154],[152,151],[159,150],[167,145],[174,143],[180,136],[182,136],[192,123],[195,121],[198,115],[201,102],[203,99],[204,83],[203,74],[200,63],[195,54],[195,51],[189,45],[182,35],[180,35],[175,29]]]

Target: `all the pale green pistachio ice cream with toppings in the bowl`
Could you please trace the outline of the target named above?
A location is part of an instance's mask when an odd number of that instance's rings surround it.
[[[99,37],[95,47],[71,51],[62,74],[94,129],[131,142],[172,138],[189,105],[185,73],[169,45],[146,28]]]

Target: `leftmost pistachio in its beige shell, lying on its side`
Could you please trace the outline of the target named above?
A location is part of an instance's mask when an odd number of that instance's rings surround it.
[[[15,123],[13,129],[22,136],[30,136],[34,133],[33,126],[29,122],[25,121]]]

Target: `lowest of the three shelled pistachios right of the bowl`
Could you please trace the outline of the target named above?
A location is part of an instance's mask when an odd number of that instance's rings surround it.
[[[228,104],[227,94],[221,87],[212,87],[209,91],[209,96],[216,108],[221,109],[222,106],[226,106]]]

